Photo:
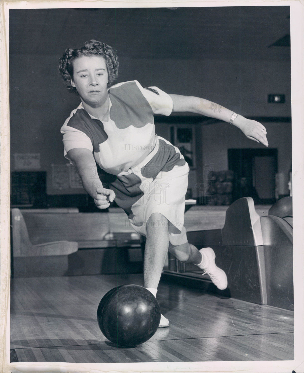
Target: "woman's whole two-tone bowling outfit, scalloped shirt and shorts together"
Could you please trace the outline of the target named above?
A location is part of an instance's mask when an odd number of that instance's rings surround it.
[[[86,148],[105,173],[115,175],[109,188],[135,231],[146,235],[148,218],[158,212],[170,222],[172,244],[187,242],[183,225],[189,167],[178,148],[155,134],[153,116],[169,116],[172,99],[138,81],[113,85],[109,98],[107,121],[91,116],[82,104],[71,112],[61,128],[64,156],[69,159],[69,150]]]

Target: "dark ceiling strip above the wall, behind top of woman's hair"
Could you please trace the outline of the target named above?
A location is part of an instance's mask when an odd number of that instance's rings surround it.
[[[286,60],[289,6],[10,10],[10,54],[60,56],[95,38],[136,59]]]

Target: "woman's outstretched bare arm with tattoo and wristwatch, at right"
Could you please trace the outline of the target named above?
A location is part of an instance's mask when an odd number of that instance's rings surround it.
[[[234,112],[204,98],[194,96],[169,95],[173,101],[173,112],[191,112],[232,123],[251,140],[268,146],[266,128],[256,120],[246,119],[241,115],[233,116]]]

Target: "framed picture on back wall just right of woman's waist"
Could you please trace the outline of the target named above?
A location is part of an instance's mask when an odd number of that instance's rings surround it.
[[[196,169],[194,126],[184,124],[171,126],[170,141],[179,148],[190,169]]]

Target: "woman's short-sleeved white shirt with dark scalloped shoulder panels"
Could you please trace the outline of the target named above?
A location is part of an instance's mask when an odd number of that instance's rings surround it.
[[[170,115],[172,99],[157,87],[142,87],[136,80],[109,88],[109,120],[88,114],[82,103],[61,128],[64,156],[73,148],[93,152],[97,164],[117,175],[147,157],[156,144],[153,114]]]

